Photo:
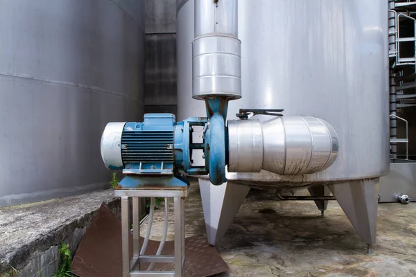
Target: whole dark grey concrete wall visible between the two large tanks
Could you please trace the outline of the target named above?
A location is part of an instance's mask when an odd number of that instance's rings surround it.
[[[146,0],[144,112],[176,114],[176,1]]]

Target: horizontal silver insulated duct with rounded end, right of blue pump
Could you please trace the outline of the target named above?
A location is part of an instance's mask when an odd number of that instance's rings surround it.
[[[333,127],[310,116],[228,120],[228,136],[229,172],[311,174],[331,166],[338,154]]]

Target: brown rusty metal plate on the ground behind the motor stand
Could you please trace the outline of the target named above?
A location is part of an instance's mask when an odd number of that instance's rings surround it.
[[[155,254],[157,247],[159,242],[149,240],[145,254]],[[173,255],[173,249],[173,241],[166,242],[162,255]],[[121,222],[110,208],[103,204],[76,251],[72,271],[80,277],[121,277],[121,265]],[[141,264],[141,270],[146,269],[148,265]],[[155,263],[152,270],[167,271],[173,268],[173,264]],[[202,235],[185,239],[185,276],[206,277],[227,270],[228,266],[223,258]]]

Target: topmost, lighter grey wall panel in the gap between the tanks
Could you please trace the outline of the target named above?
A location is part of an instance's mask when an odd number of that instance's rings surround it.
[[[176,32],[176,1],[145,0],[146,34]]]

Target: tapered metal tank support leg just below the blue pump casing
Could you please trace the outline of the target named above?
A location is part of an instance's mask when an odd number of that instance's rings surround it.
[[[199,179],[199,185],[207,240],[209,244],[215,245],[225,235],[229,224],[248,195],[250,187],[235,184],[232,181],[214,186],[207,179]]]

